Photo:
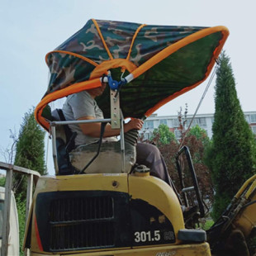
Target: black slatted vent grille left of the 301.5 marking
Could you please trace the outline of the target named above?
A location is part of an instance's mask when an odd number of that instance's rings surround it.
[[[112,197],[69,197],[50,203],[50,250],[114,245]]]

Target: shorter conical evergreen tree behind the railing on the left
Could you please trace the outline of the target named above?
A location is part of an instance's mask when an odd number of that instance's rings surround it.
[[[33,109],[26,112],[23,117],[14,164],[37,171],[41,175],[46,173],[45,131],[36,123]],[[26,198],[26,183],[18,174],[14,177],[14,191],[21,193],[22,198]]]

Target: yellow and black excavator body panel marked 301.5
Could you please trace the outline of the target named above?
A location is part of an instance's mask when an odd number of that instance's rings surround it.
[[[193,231],[187,234],[173,189],[149,173],[46,176],[36,186],[25,246],[35,256],[211,255]]]

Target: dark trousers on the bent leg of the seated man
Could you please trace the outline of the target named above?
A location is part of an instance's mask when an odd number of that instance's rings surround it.
[[[137,164],[144,164],[150,168],[150,175],[163,179],[171,185],[168,170],[164,162],[164,158],[159,149],[148,143],[138,143],[137,147]]]

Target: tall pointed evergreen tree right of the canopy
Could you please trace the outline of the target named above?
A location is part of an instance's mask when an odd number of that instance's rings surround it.
[[[220,216],[244,181],[254,174],[255,140],[235,90],[230,58],[220,55],[210,168],[215,185],[213,217]],[[208,157],[209,160],[209,157]]]

